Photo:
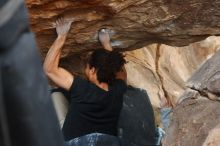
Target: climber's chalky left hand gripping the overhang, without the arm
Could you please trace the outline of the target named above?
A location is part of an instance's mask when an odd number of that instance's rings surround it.
[[[67,21],[63,18],[60,18],[56,21],[56,31],[58,36],[67,35],[70,30],[72,21]]]

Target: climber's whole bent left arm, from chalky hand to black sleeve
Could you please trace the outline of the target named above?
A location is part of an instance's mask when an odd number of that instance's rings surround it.
[[[67,33],[70,29],[71,22],[59,19],[56,22],[57,39],[50,47],[44,61],[44,71],[49,79],[51,79],[58,87],[69,90],[74,76],[67,70],[59,67],[61,49],[65,43]]]

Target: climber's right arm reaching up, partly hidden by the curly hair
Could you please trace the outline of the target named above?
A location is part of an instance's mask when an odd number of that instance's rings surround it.
[[[101,42],[101,44],[105,50],[113,51],[113,48],[112,48],[111,42],[110,42],[109,33],[108,33],[107,29],[99,30],[99,41]],[[124,81],[127,80],[127,71],[124,66],[122,67],[121,71],[117,72],[116,78],[124,80]]]

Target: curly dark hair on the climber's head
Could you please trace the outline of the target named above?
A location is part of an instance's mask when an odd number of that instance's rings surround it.
[[[96,69],[100,83],[112,84],[116,73],[122,70],[126,61],[120,52],[98,49],[92,52],[87,63],[90,68]]]

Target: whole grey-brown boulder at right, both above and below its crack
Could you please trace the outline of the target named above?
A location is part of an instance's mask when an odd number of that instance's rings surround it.
[[[189,79],[182,102],[174,109],[165,146],[220,145],[219,60],[220,51]]]

